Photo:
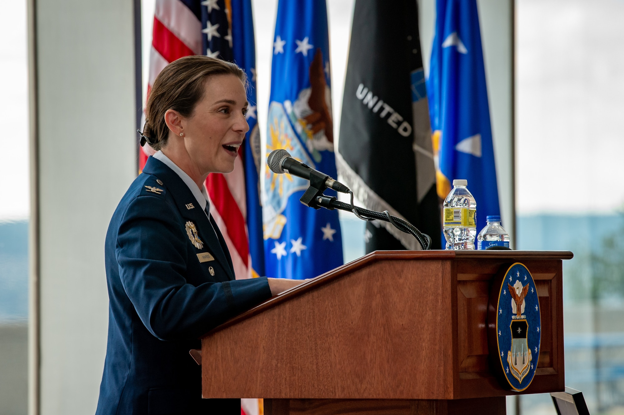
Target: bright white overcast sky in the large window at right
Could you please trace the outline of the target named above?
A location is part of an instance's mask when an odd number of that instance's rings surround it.
[[[624,203],[624,2],[517,2],[517,212]]]

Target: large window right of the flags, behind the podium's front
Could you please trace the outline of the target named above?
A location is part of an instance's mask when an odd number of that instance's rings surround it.
[[[563,264],[566,385],[624,406],[624,4],[516,2],[517,244]],[[524,414],[555,414],[525,395]]]

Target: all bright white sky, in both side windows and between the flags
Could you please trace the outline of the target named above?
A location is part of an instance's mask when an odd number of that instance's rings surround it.
[[[144,0],[144,80],[155,0]],[[0,221],[29,214],[26,2],[0,15]],[[265,135],[277,0],[254,0],[258,121]],[[338,134],[353,0],[328,0]],[[612,212],[624,204],[624,2],[517,2],[517,210]],[[424,45],[424,47],[431,47]],[[144,85],[145,90],[145,85]]]

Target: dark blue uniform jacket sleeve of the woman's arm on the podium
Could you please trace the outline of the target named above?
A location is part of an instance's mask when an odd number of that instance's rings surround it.
[[[130,203],[117,234],[119,275],[145,327],[161,340],[197,338],[271,297],[266,278],[187,284],[185,234],[157,196]]]

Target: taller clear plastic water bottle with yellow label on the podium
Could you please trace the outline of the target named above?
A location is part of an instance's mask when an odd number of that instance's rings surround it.
[[[474,249],[477,202],[466,188],[467,185],[467,180],[453,180],[453,189],[444,199],[446,249]]]

